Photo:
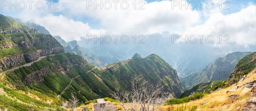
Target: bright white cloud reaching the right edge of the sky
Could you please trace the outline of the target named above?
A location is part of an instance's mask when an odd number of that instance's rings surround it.
[[[213,46],[256,46],[256,6],[248,6],[239,12],[223,15],[220,12],[210,15],[209,19],[202,25],[187,27],[183,35],[213,35],[215,42]],[[219,35],[222,35],[222,43],[218,43]],[[229,35],[230,44],[223,44],[224,35]]]

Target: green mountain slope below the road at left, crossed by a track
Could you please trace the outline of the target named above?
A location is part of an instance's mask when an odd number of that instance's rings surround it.
[[[56,54],[35,62],[31,66],[5,73],[1,80],[0,90],[3,89],[10,97],[14,95],[18,100],[12,101],[15,104],[25,102],[33,104],[33,107],[55,108],[61,106],[63,101],[70,99],[71,93],[76,95],[80,103],[100,97],[111,97],[112,91],[94,75],[93,71],[97,71],[94,67],[76,54]],[[8,92],[8,90],[13,92]],[[39,101],[32,101],[35,99],[34,97],[27,98],[27,101],[19,98],[20,91],[25,95],[34,95]],[[38,104],[37,102],[42,103]],[[6,102],[1,102],[0,106],[6,107]],[[23,104],[22,106],[27,105]],[[14,106],[8,107],[13,108]]]

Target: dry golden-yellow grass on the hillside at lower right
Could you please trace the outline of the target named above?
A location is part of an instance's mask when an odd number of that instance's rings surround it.
[[[247,74],[247,77],[239,82],[237,86],[243,85],[244,83],[256,80],[256,69]],[[212,94],[208,94],[199,100],[187,102],[186,106],[198,106],[196,111],[242,111],[242,106],[246,103],[246,100],[252,99],[250,96],[251,89],[249,88],[238,88],[235,92],[227,91],[236,88],[236,85],[231,85],[228,88],[215,91]],[[233,94],[239,94],[234,100],[230,100],[228,96]],[[203,104],[203,105],[202,105]],[[159,108],[159,110],[167,111],[170,107],[178,108],[182,104],[178,105],[165,105]]]

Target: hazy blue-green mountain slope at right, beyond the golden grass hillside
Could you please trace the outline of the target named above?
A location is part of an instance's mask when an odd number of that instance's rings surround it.
[[[233,52],[225,57],[217,58],[214,62],[209,63],[202,71],[191,74],[188,77],[180,78],[185,89],[192,88],[199,83],[207,83],[215,80],[225,80],[233,72],[238,61],[251,54],[251,52]]]

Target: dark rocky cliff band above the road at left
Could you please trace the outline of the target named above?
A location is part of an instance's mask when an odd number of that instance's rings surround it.
[[[35,37],[35,38],[40,38],[40,37]],[[3,70],[4,68],[20,65],[20,63],[23,63],[23,62],[25,63],[32,62],[37,60],[38,57],[41,57],[41,56],[63,53],[64,48],[58,43],[58,41],[53,38],[52,39],[49,39],[49,38],[50,37],[44,37],[41,40],[31,39],[27,41],[22,41],[21,43],[18,43],[18,44],[10,42],[9,44],[12,44],[11,46],[6,43],[1,44],[2,49],[9,48],[11,50],[13,46],[20,46],[25,49],[20,49],[20,50],[23,50],[23,53],[21,54],[7,55],[5,57],[0,58],[0,69]],[[19,47],[16,47],[16,48],[19,48]],[[34,49],[30,50],[30,48],[34,48]]]

